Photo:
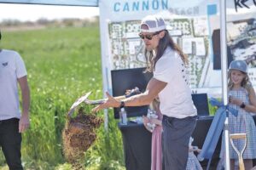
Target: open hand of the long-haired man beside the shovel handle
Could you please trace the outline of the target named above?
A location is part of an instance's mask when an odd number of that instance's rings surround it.
[[[97,112],[97,111],[101,111],[102,109],[107,109],[109,107],[119,107],[120,102],[117,99],[114,99],[113,96],[111,96],[110,94],[108,94],[108,92],[106,92],[107,95],[107,100],[102,104],[102,105],[97,105],[95,108],[92,109],[92,112]]]

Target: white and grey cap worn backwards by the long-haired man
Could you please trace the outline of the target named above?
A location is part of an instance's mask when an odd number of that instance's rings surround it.
[[[143,27],[143,25],[147,26],[148,29]],[[141,32],[153,33],[163,30],[166,30],[166,23],[159,15],[148,15],[143,18],[141,23]]]

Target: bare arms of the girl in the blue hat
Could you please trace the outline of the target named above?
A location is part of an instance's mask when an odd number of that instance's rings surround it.
[[[254,92],[253,87],[249,88],[249,104],[245,104],[245,108],[243,108],[245,111],[256,113],[256,95]],[[241,99],[236,99],[233,97],[230,97],[230,104],[241,106],[243,101]]]

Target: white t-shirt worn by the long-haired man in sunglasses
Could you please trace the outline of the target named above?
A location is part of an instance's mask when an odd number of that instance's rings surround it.
[[[189,88],[189,74],[183,60],[172,48],[166,48],[163,56],[156,62],[154,78],[167,82],[160,94],[160,111],[163,115],[175,118],[196,116]]]

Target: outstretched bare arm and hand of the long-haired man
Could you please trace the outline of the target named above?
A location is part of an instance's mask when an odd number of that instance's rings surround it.
[[[137,94],[129,98],[123,99],[125,106],[149,105],[150,102],[166,87],[167,82],[161,82],[154,77],[148,82],[148,87],[143,94]],[[120,101],[106,93],[108,99],[102,105],[97,105],[92,111],[100,111],[109,107],[119,107]]]

